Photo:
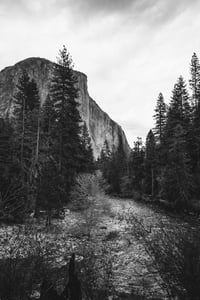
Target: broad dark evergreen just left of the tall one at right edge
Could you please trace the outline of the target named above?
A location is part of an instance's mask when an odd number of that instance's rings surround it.
[[[179,77],[169,105],[164,136],[165,165],[161,169],[161,194],[174,203],[186,204],[190,198],[191,107],[186,84]]]

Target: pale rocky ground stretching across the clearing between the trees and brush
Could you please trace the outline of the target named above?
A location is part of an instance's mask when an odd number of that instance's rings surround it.
[[[150,225],[150,228],[152,224],[154,229],[160,222],[169,230],[173,229],[174,225],[183,226],[183,222],[155,212],[133,200],[107,196],[90,200],[91,205],[88,210],[76,212],[66,208],[65,217],[53,219],[49,228],[45,227],[44,218],[41,218],[40,222],[31,219],[26,225],[2,225],[0,228],[1,257],[14,257],[21,251],[21,245],[23,251],[26,249],[27,253],[30,247],[48,248],[53,253],[56,264],[62,266],[66,264],[72,252],[75,252],[77,260],[81,261],[85,251],[88,251],[88,245],[92,245],[94,253],[100,251],[98,253],[101,256],[106,256],[104,264],[111,264],[111,281],[118,293],[131,295],[138,291],[140,294],[145,294],[148,290],[148,293],[154,295],[154,299],[165,299],[158,285],[159,279],[155,280],[155,275],[152,277],[147,268],[150,258],[145,252],[142,241],[140,242],[135,236],[132,216]],[[36,244],[37,247],[34,248]],[[21,253],[21,255],[26,254]]]

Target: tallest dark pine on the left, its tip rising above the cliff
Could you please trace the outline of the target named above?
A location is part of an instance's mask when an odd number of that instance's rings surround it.
[[[69,195],[81,161],[81,118],[76,83],[72,59],[63,46],[58,63],[54,65],[50,101],[55,111],[53,155],[61,174],[64,198]]]

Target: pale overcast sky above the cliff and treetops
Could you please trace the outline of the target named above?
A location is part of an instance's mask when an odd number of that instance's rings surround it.
[[[65,44],[91,97],[145,138],[159,92],[169,101],[200,54],[200,0],[0,0],[0,69]]]

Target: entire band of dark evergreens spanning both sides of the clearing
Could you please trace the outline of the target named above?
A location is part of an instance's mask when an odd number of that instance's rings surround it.
[[[22,219],[24,212],[37,215],[41,208],[50,216],[69,201],[77,174],[95,167],[109,193],[148,195],[189,207],[200,192],[200,65],[195,53],[190,72],[191,93],[180,76],[168,104],[159,94],[145,145],[137,138],[128,155],[119,131],[118,146],[110,149],[105,140],[95,166],[66,47],[59,52],[43,106],[36,82],[23,70],[12,115],[0,119],[0,218]]]

